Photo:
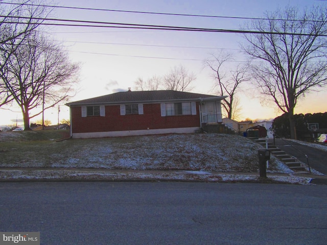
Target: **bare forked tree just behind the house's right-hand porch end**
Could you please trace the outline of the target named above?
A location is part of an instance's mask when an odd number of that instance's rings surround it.
[[[240,84],[250,80],[248,75],[248,64],[238,65],[235,70],[229,70],[227,74],[225,64],[233,60],[231,53],[221,51],[218,54],[212,54],[212,59],[205,61],[205,65],[214,71],[216,80],[215,89],[218,89],[218,95],[227,95],[222,100],[222,107],[226,116],[230,119],[236,119],[239,115],[240,105],[236,93],[240,90]]]

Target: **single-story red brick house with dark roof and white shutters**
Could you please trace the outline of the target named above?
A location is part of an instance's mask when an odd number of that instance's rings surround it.
[[[193,133],[222,121],[226,96],[173,90],[117,92],[67,103],[73,138]]]

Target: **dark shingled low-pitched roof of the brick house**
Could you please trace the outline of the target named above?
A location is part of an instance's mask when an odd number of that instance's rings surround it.
[[[67,103],[67,106],[78,105],[107,105],[107,104],[125,104],[125,103],[153,103],[169,101],[187,101],[187,100],[222,100],[226,96],[215,96],[201,93],[190,93],[174,90],[153,90],[153,91],[126,91],[111,93],[91,99]]]

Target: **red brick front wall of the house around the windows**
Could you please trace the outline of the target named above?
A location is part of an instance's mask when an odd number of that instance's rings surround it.
[[[105,106],[105,116],[82,117],[81,107],[72,107],[72,132],[107,132],[146,129],[200,127],[199,104],[196,115],[161,116],[160,104],[144,104],[143,115],[120,115],[120,106]]]

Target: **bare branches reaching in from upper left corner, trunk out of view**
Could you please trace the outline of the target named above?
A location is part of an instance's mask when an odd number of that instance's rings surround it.
[[[42,18],[50,13],[51,9],[39,6],[39,3],[37,0],[0,2],[0,70],[30,32],[39,27]],[[3,81],[0,81],[0,107],[13,99]]]

